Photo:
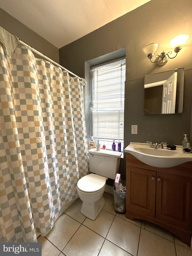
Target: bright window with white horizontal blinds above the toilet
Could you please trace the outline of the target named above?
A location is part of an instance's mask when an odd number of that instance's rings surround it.
[[[125,57],[91,67],[92,134],[101,147],[124,143]]]

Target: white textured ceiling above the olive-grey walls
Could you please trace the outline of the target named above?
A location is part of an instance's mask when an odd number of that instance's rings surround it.
[[[58,48],[150,0],[0,0],[0,8]]]

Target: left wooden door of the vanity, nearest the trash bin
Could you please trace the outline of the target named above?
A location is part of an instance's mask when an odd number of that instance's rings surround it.
[[[127,211],[155,217],[156,172],[127,166]]]

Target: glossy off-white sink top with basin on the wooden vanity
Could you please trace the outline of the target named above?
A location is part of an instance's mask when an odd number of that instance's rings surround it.
[[[130,153],[145,164],[167,168],[192,161],[192,153],[186,154],[182,149],[182,146],[176,146],[176,150],[170,150],[167,149],[166,145],[164,149],[155,149],[150,148],[149,143],[131,142],[125,148],[125,152]]]

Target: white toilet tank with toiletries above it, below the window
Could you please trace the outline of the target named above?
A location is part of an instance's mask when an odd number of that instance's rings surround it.
[[[89,151],[89,172],[95,173],[110,179],[115,179],[116,173],[119,172],[119,164],[122,153],[104,150]]]

